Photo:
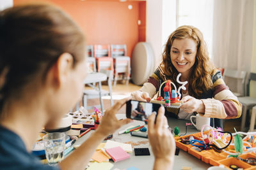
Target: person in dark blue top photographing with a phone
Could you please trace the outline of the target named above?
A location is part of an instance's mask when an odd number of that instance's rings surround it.
[[[1,11],[0,34],[1,169],[84,169],[99,143],[131,122],[115,117],[129,98],[106,110],[97,131],[59,166],[43,165],[31,149],[42,127],[56,127],[81,98],[86,41],[74,21],[49,4]],[[163,108],[154,119],[148,120],[154,169],[172,169],[175,142]]]

